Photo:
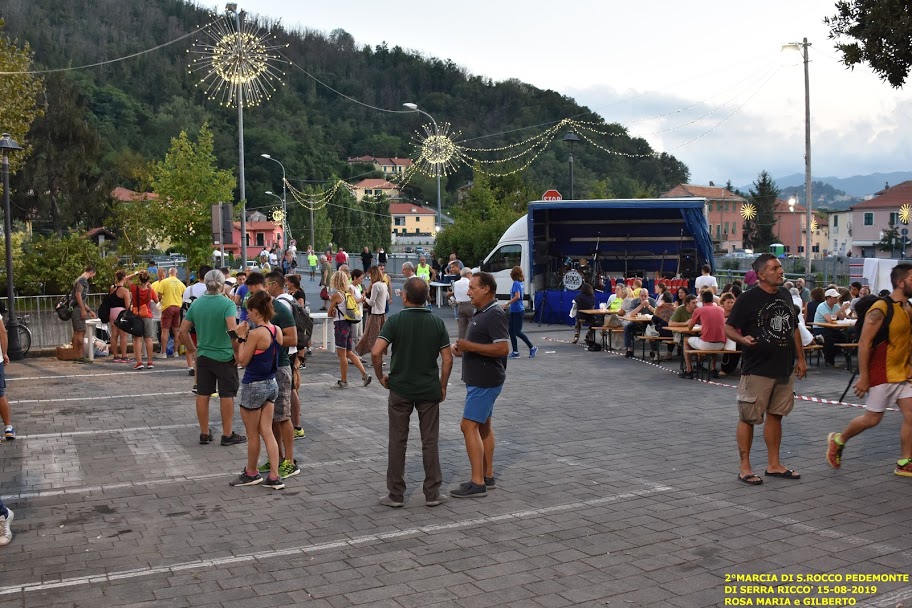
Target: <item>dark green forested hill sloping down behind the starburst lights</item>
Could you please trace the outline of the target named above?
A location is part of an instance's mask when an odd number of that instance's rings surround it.
[[[179,0],[14,1],[6,3],[2,17],[6,35],[30,43],[39,69],[104,62],[151,49],[211,19]],[[280,159],[289,179],[301,187],[363,171],[346,163],[351,156],[415,156],[412,135],[422,122],[417,115],[368,109],[302,70],[379,108],[399,110],[404,102],[419,103],[438,121],[450,123],[459,139],[477,147],[515,143],[566,117],[602,120],[555,91],[517,80],[493,82],[451,61],[398,46],[360,45],[342,30],[327,35],[262,25],[289,45],[285,52],[301,69],[286,66],[286,85],[262,106],[245,111],[250,207],[267,205],[262,193],[280,185],[278,167],[261,159],[261,153]],[[141,188],[145,164],[161,159],[182,129],[195,134],[205,121],[215,135],[219,165],[236,171],[236,111],[207,100],[187,71],[187,50],[202,38],[195,34],[125,61],[47,75],[47,113],[28,135],[35,153],[14,177],[17,219],[29,216],[39,230],[98,225],[107,217],[105,195],[113,186]],[[628,137],[623,127],[610,129],[617,134],[610,138],[611,150],[652,153],[645,140]],[[501,133],[507,134],[492,135]],[[569,191],[568,150],[561,137],[523,171],[523,181],[534,191]],[[688,177],[687,167],[669,155],[628,158],[585,142],[573,153],[577,198],[657,194]],[[472,177],[471,168],[462,167],[444,180],[445,207],[455,203],[456,190]],[[413,186],[416,198],[434,200],[432,180],[416,179]],[[303,210],[293,212],[291,221],[293,229],[303,226]]]

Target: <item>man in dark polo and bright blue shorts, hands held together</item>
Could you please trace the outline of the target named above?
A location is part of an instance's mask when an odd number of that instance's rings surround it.
[[[469,299],[475,315],[466,337],[457,340],[453,354],[462,357],[466,401],[460,428],[472,466],[472,479],[450,491],[454,498],[487,496],[494,489],[494,401],[507,378],[510,332],[507,315],[497,305],[497,282],[487,272],[476,272],[469,281]]]

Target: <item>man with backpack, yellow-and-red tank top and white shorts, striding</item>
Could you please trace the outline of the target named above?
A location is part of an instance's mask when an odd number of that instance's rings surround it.
[[[865,413],[841,433],[827,436],[827,464],[838,469],[846,442],[877,426],[887,406],[896,403],[903,415],[899,431],[900,458],[895,475],[912,477],[912,264],[902,263],[890,273],[893,292],[886,298],[865,296],[856,305],[861,334],[858,339],[858,382],[855,394],[868,394]]]

